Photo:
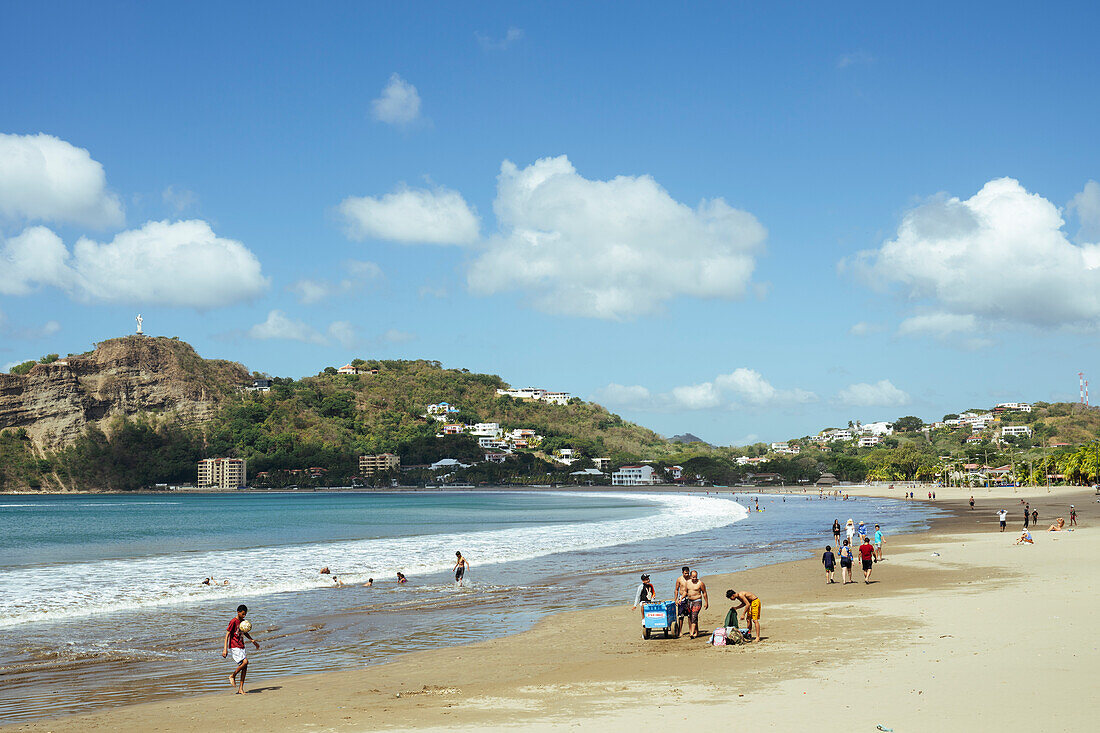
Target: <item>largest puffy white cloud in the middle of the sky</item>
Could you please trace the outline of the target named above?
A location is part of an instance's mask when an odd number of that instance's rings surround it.
[[[499,233],[471,291],[520,291],[547,313],[629,319],[678,296],[740,298],[766,230],[721,198],[692,208],[650,176],[591,180],[564,155],[501,166]]]

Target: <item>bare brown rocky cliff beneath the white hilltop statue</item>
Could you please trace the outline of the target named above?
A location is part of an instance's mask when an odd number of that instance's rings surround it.
[[[0,430],[26,428],[35,446],[56,450],[117,416],[156,413],[197,425],[248,381],[241,364],[202,359],[184,341],[111,339],[28,374],[0,374]]]

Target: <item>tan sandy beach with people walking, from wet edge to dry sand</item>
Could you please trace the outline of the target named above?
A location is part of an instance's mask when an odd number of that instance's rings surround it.
[[[966,506],[971,493],[976,511]],[[1013,545],[1021,497],[1040,512],[1033,546]],[[704,578],[711,606],[701,627],[721,624],[725,589],[747,589],[763,602],[760,644],[644,641],[625,599],[551,616],[522,634],[362,670],[272,678],[257,653],[243,697],[227,679],[224,694],[3,730],[1091,727],[1100,713],[1100,653],[1090,633],[1100,598],[1100,504],[1091,490],[942,490],[936,503],[953,514],[927,533],[888,537],[871,584],[826,586],[821,550]],[[1047,533],[1056,516],[1068,521],[1070,503],[1081,526]],[[1005,533],[996,516],[1002,506]],[[671,591],[658,588],[661,597]]]

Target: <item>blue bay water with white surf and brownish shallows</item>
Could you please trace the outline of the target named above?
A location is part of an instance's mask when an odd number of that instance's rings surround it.
[[[801,556],[834,518],[889,534],[935,510],[642,492],[0,496],[0,723],[224,691],[224,628],[250,608],[249,682],[358,668],[670,594],[702,575]],[[842,516],[844,514],[844,516]],[[472,567],[455,588],[461,550]],[[329,567],[348,586],[334,587]],[[396,572],[409,583],[398,586]],[[204,586],[213,577],[218,584]],[[374,578],[373,588],[362,583]],[[228,581],[228,584],[222,584]],[[667,588],[664,587],[667,586]],[[507,608],[507,612],[502,609]],[[250,648],[251,653],[251,648]]]

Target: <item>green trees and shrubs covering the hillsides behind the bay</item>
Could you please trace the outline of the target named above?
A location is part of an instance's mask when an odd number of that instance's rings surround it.
[[[53,359],[56,355],[48,354],[41,361]],[[356,360],[355,365],[377,372],[345,375],[329,368],[302,380],[276,378],[268,392],[235,392],[206,360],[194,354],[191,361],[182,363],[184,376],[201,378],[230,395],[204,427],[186,429],[155,415],[119,418],[106,429],[89,429],[56,453],[36,452],[24,430],[6,430],[0,433],[0,490],[134,490],[189,483],[196,479],[196,462],[213,456],[246,459],[254,485],[348,485],[359,473],[358,457],[380,452],[400,456],[403,470],[369,481],[377,485],[394,479],[438,481],[442,477],[427,464],[443,458],[472,464],[451,471],[447,480],[452,482],[606,483],[606,477],[573,475],[591,468],[591,459],[597,457],[610,458],[616,467],[650,460],[670,479],[672,467],[680,466],[684,481],[719,485],[805,484],[824,471],[840,481],[958,480],[967,466],[1011,466],[1013,478],[1021,482],[1100,481],[1100,411],[1064,403],[1037,403],[1031,413],[1000,416],[1000,425],[1031,426],[1031,437],[998,441],[987,434],[975,440],[968,427],[926,431],[921,418],[908,415],[899,417],[894,434],[875,447],[839,441],[821,446],[816,437],[805,436],[789,441],[801,447],[799,455],[790,456],[772,452],[765,444],[716,448],[701,441],[667,441],[580,400],[550,405],[499,396],[496,390],[506,386],[499,378],[444,369],[435,361]],[[460,408],[454,422],[498,423],[505,430],[532,428],[543,440],[534,450],[516,451],[503,464],[485,462],[475,438],[437,437],[441,424],[425,412],[438,402]],[[563,448],[572,448],[581,459],[572,466],[552,460]],[[745,462],[745,458],[762,460]],[[264,475],[257,480],[260,473]]]

